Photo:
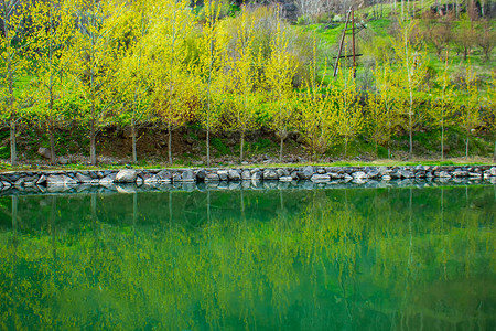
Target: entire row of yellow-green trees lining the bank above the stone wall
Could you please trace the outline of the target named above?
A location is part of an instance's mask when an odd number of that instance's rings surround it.
[[[359,90],[353,68],[330,77],[321,45],[281,19],[279,8],[222,0],[192,7],[188,0],[6,0],[0,9],[2,119],[10,127],[11,163],[21,120],[46,129],[55,163],[56,129],[75,124],[88,130],[90,162],[97,135],[107,126],[131,127],[132,161],[138,130],[155,122],[171,132],[188,122],[211,134],[237,131],[240,161],[246,134],[259,127],[280,139],[298,131],[312,157],[367,136],[389,147],[399,130],[429,122],[442,132],[462,127],[470,136],[495,130],[495,85],[482,93],[468,65],[461,84],[449,75],[450,60],[432,84],[425,51],[412,41],[414,21],[401,21],[387,58],[376,58],[375,84]],[[342,61],[345,64],[345,61]],[[29,82],[25,82],[25,81]],[[441,157],[443,157],[440,141]]]

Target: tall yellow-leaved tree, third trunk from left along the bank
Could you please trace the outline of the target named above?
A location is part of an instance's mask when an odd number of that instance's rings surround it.
[[[122,44],[119,28],[123,3],[119,0],[74,0],[76,33],[72,51],[71,74],[87,100],[84,118],[89,125],[89,159],[97,163],[96,138],[108,124],[116,99],[114,85]]]

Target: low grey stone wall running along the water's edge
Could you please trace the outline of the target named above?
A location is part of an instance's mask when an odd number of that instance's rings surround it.
[[[357,185],[391,180],[487,180],[496,183],[496,166],[401,166],[401,167],[278,167],[278,168],[198,168],[198,169],[121,169],[68,171],[12,171],[0,173],[2,192],[63,192],[75,186],[109,188],[136,184],[147,188],[177,183],[205,183],[225,186],[242,183],[256,186],[259,182]]]

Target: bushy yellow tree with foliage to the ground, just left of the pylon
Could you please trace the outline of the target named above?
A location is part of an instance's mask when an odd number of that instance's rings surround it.
[[[328,86],[324,84],[326,70],[317,77],[316,42],[313,42],[313,56],[309,64],[309,78],[299,100],[299,128],[310,150],[312,159],[322,156],[336,139],[336,117],[330,111]]]

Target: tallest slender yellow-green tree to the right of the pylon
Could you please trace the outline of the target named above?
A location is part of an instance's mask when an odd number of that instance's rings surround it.
[[[392,45],[396,55],[396,71],[401,77],[398,79],[398,83],[401,84],[398,92],[402,92],[402,111],[408,117],[407,130],[410,157],[413,154],[413,126],[419,117],[413,107],[413,97],[421,86],[427,72],[424,54],[419,51],[419,44],[411,42],[414,26],[414,21],[410,23],[400,22],[400,34]]]

